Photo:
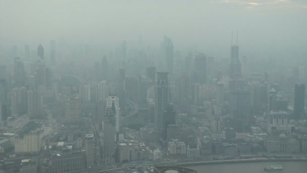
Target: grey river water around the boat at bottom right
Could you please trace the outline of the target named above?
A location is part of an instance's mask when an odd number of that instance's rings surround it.
[[[283,166],[283,170],[264,170],[267,165]],[[261,173],[261,172],[282,172],[282,173],[300,173],[307,172],[306,161],[268,161],[268,162],[240,162],[240,163],[221,163],[185,166],[197,170],[198,173]]]

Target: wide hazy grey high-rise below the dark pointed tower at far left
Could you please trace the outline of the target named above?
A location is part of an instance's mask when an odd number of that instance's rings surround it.
[[[37,111],[39,109],[41,109],[42,107],[42,97],[40,96],[40,94],[38,93],[37,90],[28,90],[27,91],[27,95],[28,95],[28,112],[34,112]]]

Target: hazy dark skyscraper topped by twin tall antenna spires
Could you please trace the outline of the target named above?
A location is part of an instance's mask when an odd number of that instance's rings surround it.
[[[238,44],[238,33],[237,33],[237,44]],[[239,46],[232,45],[231,42],[229,76],[230,78],[237,78],[240,77],[240,75],[241,75],[241,63],[239,60]]]

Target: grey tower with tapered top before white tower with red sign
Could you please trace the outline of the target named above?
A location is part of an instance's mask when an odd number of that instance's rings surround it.
[[[115,117],[111,107],[106,107],[105,120],[103,125],[104,132],[104,162],[114,163],[115,154]]]

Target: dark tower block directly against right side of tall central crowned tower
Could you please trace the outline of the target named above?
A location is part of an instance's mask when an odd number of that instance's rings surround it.
[[[167,126],[170,124],[176,124],[176,112],[174,105],[167,105],[163,112],[163,127],[162,127],[162,139],[167,140]]]

